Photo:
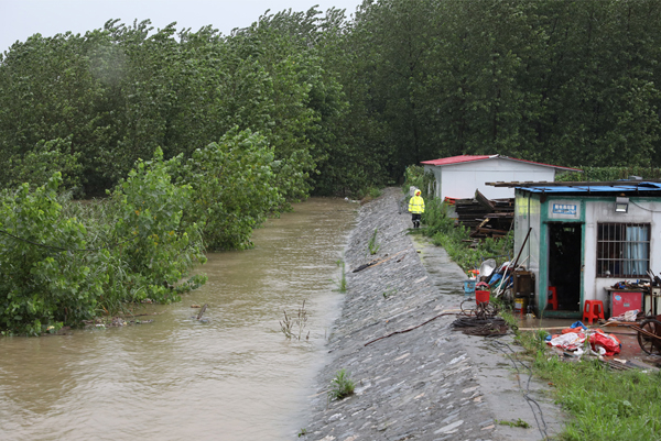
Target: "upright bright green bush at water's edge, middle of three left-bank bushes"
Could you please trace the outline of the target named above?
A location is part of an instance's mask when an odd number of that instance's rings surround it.
[[[111,196],[118,206],[113,233],[134,238],[122,245],[122,258],[136,284],[144,289],[138,299],[178,300],[177,290],[170,287],[197,262],[206,262],[197,224],[183,220],[193,188],[171,181],[163,153],[156,148],[154,158],[138,162]]]

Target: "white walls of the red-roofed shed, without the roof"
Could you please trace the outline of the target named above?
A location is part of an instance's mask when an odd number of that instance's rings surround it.
[[[427,166],[425,170],[433,169],[436,179],[441,183],[438,196],[457,199],[475,197],[478,189],[489,199],[513,198],[514,189],[507,187],[491,187],[485,183],[511,181],[553,181],[555,168],[541,165],[521,163],[511,159],[492,158],[460,163],[453,165]],[[442,173],[436,170],[442,169]]]

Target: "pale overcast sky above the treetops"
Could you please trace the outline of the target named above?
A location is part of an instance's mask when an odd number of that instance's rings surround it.
[[[0,0],[0,52],[17,41],[24,42],[40,33],[53,36],[72,31],[85,34],[100,29],[110,19],[131,24],[134,19],[151,20],[154,27],[176,22],[177,30],[212,24],[229,34],[246,27],[267,9],[307,11],[315,4],[322,11],[332,7],[346,9],[347,16],[361,0]]]

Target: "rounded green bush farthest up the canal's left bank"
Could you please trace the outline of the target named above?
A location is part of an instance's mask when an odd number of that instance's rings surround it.
[[[264,136],[235,128],[184,164],[171,162],[170,173],[193,189],[184,219],[203,225],[209,249],[251,246],[252,229],[284,202],[273,156]]]

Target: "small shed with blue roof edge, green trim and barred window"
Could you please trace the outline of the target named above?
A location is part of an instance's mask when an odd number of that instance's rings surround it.
[[[534,276],[532,305],[544,317],[581,318],[585,300],[602,300],[608,317],[611,286],[661,271],[660,183],[489,184],[516,189],[514,253]]]

